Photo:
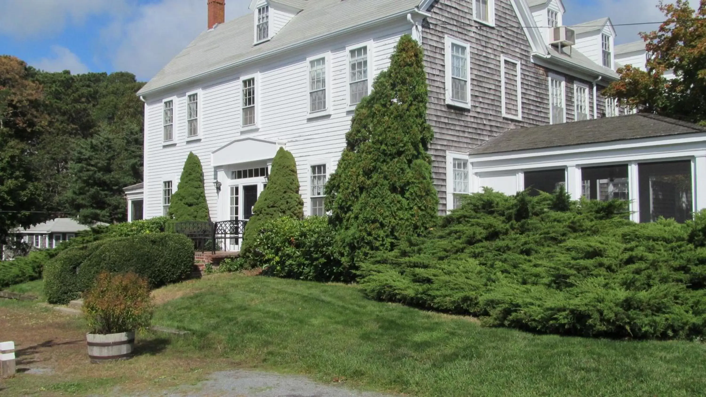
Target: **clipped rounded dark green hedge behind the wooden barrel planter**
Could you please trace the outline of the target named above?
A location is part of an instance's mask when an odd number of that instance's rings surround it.
[[[134,273],[158,288],[188,277],[193,244],[184,235],[169,233],[104,239],[61,252],[44,271],[49,303],[64,304],[90,288],[101,271]]]

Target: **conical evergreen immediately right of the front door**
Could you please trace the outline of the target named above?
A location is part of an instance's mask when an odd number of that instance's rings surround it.
[[[299,176],[294,156],[285,148],[277,150],[272,160],[272,171],[267,188],[260,194],[253,208],[253,215],[245,226],[242,256],[250,253],[249,247],[260,228],[269,220],[289,216],[304,218],[304,201],[299,195]]]

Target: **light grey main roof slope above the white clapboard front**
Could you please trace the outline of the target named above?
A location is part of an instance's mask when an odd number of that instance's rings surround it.
[[[362,23],[412,11],[419,0],[285,0],[304,6],[272,40],[253,45],[255,20],[251,13],[208,30],[193,40],[138,92],[143,95],[206,73],[242,64],[270,52],[345,32]],[[282,1],[280,1],[282,2]]]

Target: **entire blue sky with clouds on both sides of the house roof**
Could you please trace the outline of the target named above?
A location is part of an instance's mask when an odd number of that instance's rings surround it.
[[[348,0],[354,1],[354,0]],[[226,19],[250,0],[226,0]],[[564,23],[661,20],[657,0],[564,0]],[[0,0],[0,54],[48,71],[130,71],[147,81],[206,28],[206,0]],[[617,43],[640,30],[618,28]]]

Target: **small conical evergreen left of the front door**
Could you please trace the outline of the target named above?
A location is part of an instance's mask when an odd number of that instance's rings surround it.
[[[172,194],[169,204],[169,216],[174,222],[198,220],[206,222],[210,219],[206,193],[203,188],[203,168],[198,156],[189,153],[184,162],[177,191]]]

